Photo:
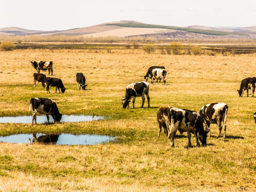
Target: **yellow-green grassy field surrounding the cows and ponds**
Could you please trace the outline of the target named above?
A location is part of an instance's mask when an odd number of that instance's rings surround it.
[[[62,79],[66,92],[55,94],[50,87],[46,94],[41,84],[34,87],[31,60],[52,60],[53,77]],[[30,115],[32,121],[30,99],[46,97],[58,103],[62,114],[107,117],[83,123],[0,124],[0,135],[118,137],[94,146],[0,143],[0,191],[255,191],[256,102],[239,98],[236,91],[243,78],[255,76],[255,63],[255,54],[162,55],[140,49],[0,52],[0,116]],[[135,109],[122,109],[125,87],[143,81],[154,65],[165,66],[167,85],[149,86],[151,108],[138,108],[137,98]],[[86,91],[77,90],[78,71],[86,77]],[[159,107],[199,111],[212,102],[229,107],[226,139],[215,138],[216,125],[211,125],[213,137],[206,147],[187,148],[186,133],[176,135],[174,148],[163,133],[157,138]],[[195,138],[191,142],[196,146]]]

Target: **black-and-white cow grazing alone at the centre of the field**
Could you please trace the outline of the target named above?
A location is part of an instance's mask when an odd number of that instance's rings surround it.
[[[145,102],[145,95],[148,100],[148,108],[150,106],[150,98],[149,98],[149,83],[148,82],[137,82],[132,83],[130,85],[127,85],[125,90],[125,98],[122,99],[123,108],[125,109],[127,106],[129,107],[129,102],[132,99],[132,109],[134,108],[134,102],[136,97],[142,98],[142,105],[141,108],[143,108],[144,102]]]

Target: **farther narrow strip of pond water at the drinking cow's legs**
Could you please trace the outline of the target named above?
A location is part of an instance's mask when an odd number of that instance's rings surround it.
[[[92,115],[62,115],[60,122],[85,122],[104,119],[102,116]],[[37,123],[47,123],[46,115],[37,115]],[[50,115],[50,123],[53,123],[53,118]],[[16,116],[16,117],[0,117],[0,123],[32,123],[32,115]]]

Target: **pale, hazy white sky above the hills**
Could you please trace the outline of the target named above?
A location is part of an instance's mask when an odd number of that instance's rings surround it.
[[[186,27],[256,26],[256,1],[1,0],[0,28],[66,30],[133,20]]]

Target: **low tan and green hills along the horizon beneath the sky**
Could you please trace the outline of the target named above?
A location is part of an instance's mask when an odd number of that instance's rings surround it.
[[[0,29],[0,35],[74,35],[74,36],[118,36],[118,37],[156,37],[156,38],[256,38],[256,26],[251,27],[174,27],[150,25],[137,21],[116,21],[102,23],[91,27],[69,29],[63,31],[29,30],[18,27]]]

